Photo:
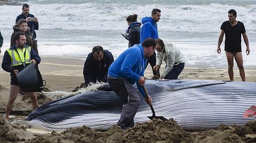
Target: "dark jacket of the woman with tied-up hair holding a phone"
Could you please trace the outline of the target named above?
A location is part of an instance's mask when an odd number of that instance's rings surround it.
[[[140,26],[130,27],[129,35],[125,36],[125,39],[129,41],[128,47],[140,43],[140,28]]]

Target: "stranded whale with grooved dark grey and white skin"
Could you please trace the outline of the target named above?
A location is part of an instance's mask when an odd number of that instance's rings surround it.
[[[146,80],[156,116],[173,118],[186,130],[206,130],[219,124],[243,126],[243,112],[256,104],[256,82],[206,80]],[[139,93],[136,85],[134,88]],[[134,122],[152,116],[142,95]],[[120,118],[122,102],[113,91],[90,91],[53,100],[34,110],[26,121],[33,128],[63,131],[83,125],[105,130]]]

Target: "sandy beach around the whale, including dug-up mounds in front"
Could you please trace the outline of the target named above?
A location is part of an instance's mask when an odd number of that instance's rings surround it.
[[[84,78],[83,78],[83,65],[84,65],[84,60],[82,59],[78,59],[78,58],[55,58],[55,57],[41,57],[42,58],[42,62],[39,65],[39,69],[41,71],[42,77],[43,79],[46,81],[46,88],[49,89],[50,91],[54,92],[54,91],[65,91],[65,92],[72,92],[73,89],[75,89],[77,86],[81,85],[81,83],[84,82]],[[0,59],[2,59],[2,55],[0,56]],[[0,62],[2,62],[0,60]],[[163,66],[164,67],[164,66]],[[161,71],[163,71],[163,67],[160,69]],[[240,76],[239,76],[239,71],[235,70],[235,81],[241,81]],[[251,81],[251,82],[256,82],[256,70],[245,70],[246,72],[246,79],[247,81]],[[148,67],[147,70],[145,71],[145,75],[147,78],[151,77],[151,70]],[[188,67],[185,66],[185,69],[183,70],[183,72],[181,73],[181,75],[179,76],[180,79],[204,79],[204,80],[229,80],[228,78],[228,72],[226,69],[205,69],[205,68],[198,68],[198,67]],[[55,142],[56,139],[60,139],[61,142],[65,143],[65,142],[79,142],[79,141],[84,141],[84,142],[99,142],[99,143],[110,143],[112,141],[114,141],[116,139],[116,137],[113,138],[113,131],[119,131],[120,135],[123,136],[128,134],[128,131],[122,131],[120,130],[120,128],[113,126],[111,127],[107,132],[107,134],[109,134],[109,136],[104,136],[104,132],[99,132],[99,131],[94,131],[93,129],[87,128],[87,127],[81,127],[81,128],[74,128],[74,129],[70,129],[69,131],[66,131],[64,133],[56,133],[56,132],[52,132],[51,134],[38,134],[38,133],[32,133],[30,131],[24,131],[24,128],[29,128],[24,126],[24,124],[22,124],[22,122],[24,121],[20,121],[20,122],[14,122],[13,120],[10,122],[4,120],[4,113],[5,113],[5,104],[8,100],[8,96],[9,96],[9,88],[10,88],[10,76],[9,73],[5,72],[4,70],[0,69],[0,118],[1,118],[1,125],[0,125],[0,132],[4,130],[8,131],[8,138],[3,138],[2,140],[0,139],[0,142],[12,142],[12,141],[28,141],[28,142],[34,142],[35,140],[32,138],[38,138],[40,137],[41,139],[43,139],[44,141],[49,141],[49,142]],[[48,102],[49,100],[46,99],[42,99],[41,97],[39,97],[39,104],[45,104],[46,102]],[[28,115],[30,112],[32,112],[32,107],[31,107],[31,103],[29,102],[29,100],[27,98],[18,96],[14,105],[13,105],[13,109],[11,112],[12,116],[11,118],[18,118],[17,116],[19,116],[19,118],[21,117],[21,120],[24,120],[24,117],[26,115]],[[14,119],[15,120],[15,119]],[[172,124],[173,126],[170,127],[171,129],[177,130],[182,132],[181,134],[183,135],[182,138],[180,139],[184,139],[184,142],[189,142],[190,139],[192,140],[198,140],[199,142],[203,143],[204,141],[214,141],[216,138],[218,138],[217,135],[219,136],[224,136],[223,139],[219,139],[218,142],[223,142],[223,141],[227,141],[227,139],[235,139],[236,141],[234,141],[233,143],[238,143],[238,142],[244,142],[245,141],[245,136],[244,137],[234,137],[232,136],[233,134],[236,135],[237,131],[240,131],[244,128],[240,128],[240,127],[231,127],[231,126],[221,126],[218,129],[215,129],[214,131],[205,131],[205,132],[187,132],[184,131],[182,128],[180,128],[178,126],[178,124],[175,121],[171,121],[169,120],[170,124]],[[149,126],[149,124],[154,124],[155,128],[162,128],[163,130],[171,130],[170,128],[163,128],[163,123],[159,123],[159,121],[157,120],[153,120],[150,122],[146,122],[143,124],[138,124],[135,127],[139,128],[137,126]],[[159,126],[159,127],[158,127]],[[231,130],[231,132],[229,132],[228,136],[225,133],[228,130]],[[29,129],[28,129],[29,130]],[[93,137],[90,138],[89,137],[83,137],[82,139],[74,139],[77,136],[83,135],[86,136],[85,134],[82,134],[81,132],[79,132],[80,130],[84,130],[85,132],[87,132],[87,134],[89,134],[88,132],[91,133],[91,135],[93,134],[97,134],[98,136],[102,136],[103,137],[100,140],[97,140],[98,137]],[[133,129],[129,129],[130,131],[134,131]],[[142,129],[140,129],[142,130]],[[5,131],[5,133],[7,133]],[[112,132],[111,132],[112,131]],[[138,130],[136,130],[138,131]],[[148,131],[148,130],[147,130]],[[252,131],[255,131],[255,129],[252,129]],[[79,133],[77,133],[79,132]],[[140,133],[143,131],[140,131]],[[215,132],[214,134],[210,134],[209,132]],[[77,135],[77,136],[73,136],[72,138],[68,138],[66,134],[70,134],[72,133],[73,135]],[[170,132],[170,134],[176,134],[177,132]],[[158,134],[157,131],[155,130],[156,135],[162,135],[162,134]],[[200,135],[199,135],[200,134]],[[206,138],[202,137],[202,134],[204,134],[205,136],[207,136]],[[232,135],[231,135],[232,134]],[[5,134],[1,134],[1,135],[5,135]],[[120,136],[118,134],[118,136]],[[185,138],[185,136],[188,135],[189,138]],[[255,134],[253,134],[255,135]],[[202,139],[200,139],[200,137]],[[121,138],[121,137],[120,137]],[[30,139],[30,140],[29,140]],[[84,140],[83,140],[84,139]],[[93,140],[94,139],[94,140]],[[119,139],[117,137],[117,139]],[[174,138],[172,141],[178,141],[179,139],[177,138],[176,140]],[[188,140],[187,140],[188,139]],[[252,138],[248,138],[247,140],[253,140],[255,139],[255,137]],[[107,142],[106,140],[109,140],[110,142]],[[122,139],[121,139],[122,140]],[[142,139],[143,140],[143,139]],[[37,139],[37,141],[40,143],[42,142],[42,140]],[[102,142],[101,142],[102,141]],[[120,141],[120,139],[119,139]],[[126,138],[123,139],[122,141],[133,141],[132,138]],[[138,141],[138,140],[137,140]],[[154,142],[155,140],[151,140],[152,142]],[[228,142],[229,142],[228,141]],[[255,141],[255,140],[254,140]],[[121,142],[121,141],[120,141]],[[136,142],[136,140],[135,140]],[[117,142],[118,143],[118,142]],[[159,143],[168,143],[168,142],[159,142]]]

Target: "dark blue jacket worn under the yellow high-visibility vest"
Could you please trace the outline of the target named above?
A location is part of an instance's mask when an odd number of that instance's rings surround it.
[[[24,47],[27,47],[27,45],[24,45]],[[10,49],[17,49],[17,47],[15,45],[12,45],[10,47]],[[35,50],[33,48],[31,48],[30,56],[31,56],[31,59],[34,59],[37,62],[37,65],[41,62],[41,58],[39,57],[39,55],[35,52]],[[8,51],[6,50],[4,52],[4,57],[3,57],[3,62],[2,62],[3,70],[11,73],[11,75],[15,75],[13,70],[19,70],[20,71],[20,70],[24,69],[23,65],[10,66],[11,62],[12,62],[11,56],[9,55]],[[26,64],[25,66],[28,66],[28,65],[29,64]]]

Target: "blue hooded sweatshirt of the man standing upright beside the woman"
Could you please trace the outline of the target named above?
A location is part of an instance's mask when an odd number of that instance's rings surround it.
[[[147,38],[158,38],[158,31],[157,31],[157,23],[154,22],[152,17],[144,17],[141,20],[142,27],[140,31],[140,43],[142,43]]]

